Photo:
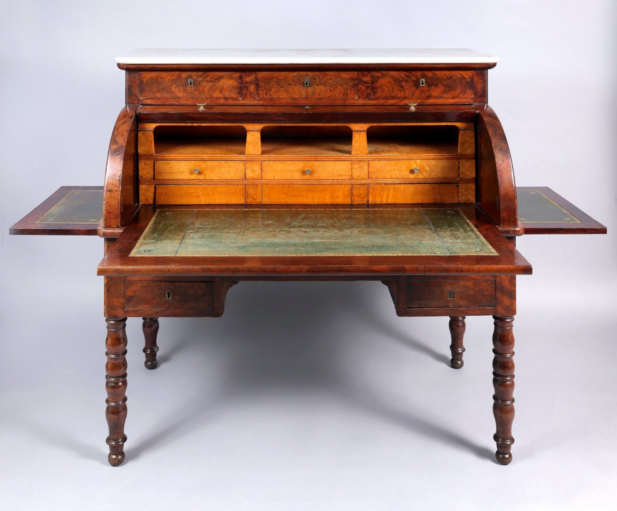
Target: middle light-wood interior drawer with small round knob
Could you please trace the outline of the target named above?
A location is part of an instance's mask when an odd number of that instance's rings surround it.
[[[262,163],[262,179],[351,179],[351,162],[276,161]]]

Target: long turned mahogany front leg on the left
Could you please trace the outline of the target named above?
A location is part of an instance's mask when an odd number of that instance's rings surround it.
[[[117,467],[124,461],[124,423],[126,421],[126,318],[106,318],[107,348],[106,390],[109,464]]]

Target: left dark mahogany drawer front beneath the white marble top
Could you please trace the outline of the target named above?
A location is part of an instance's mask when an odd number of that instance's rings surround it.
[[[231,72],[142,71],[139,73],[139,96],[142,102],[157,99],[190,102],[242,99],[242,75]]]

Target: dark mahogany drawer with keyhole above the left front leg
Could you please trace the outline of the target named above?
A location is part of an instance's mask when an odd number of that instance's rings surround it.
[[[212,282],[127,281],[125,307],[133,310],[213,310]]]

